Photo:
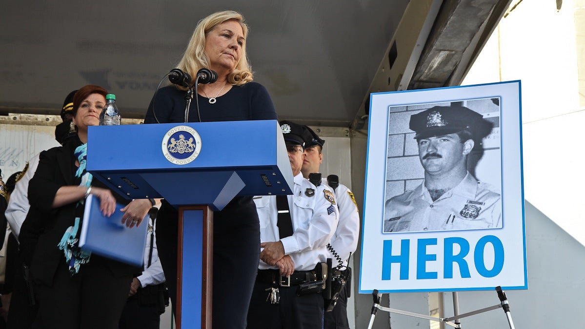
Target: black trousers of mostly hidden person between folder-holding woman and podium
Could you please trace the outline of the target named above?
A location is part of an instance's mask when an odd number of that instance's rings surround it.
[[[137,298],[130,298],[120,317],[119,329],[159,329],[160,314],[156,306],[140,306]]]

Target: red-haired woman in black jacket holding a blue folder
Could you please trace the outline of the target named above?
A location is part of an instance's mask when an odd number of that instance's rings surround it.
[[[100,210],[108,217],[116,202],[127,203],[122,223],[130,228],[138,226],[152,206],[148,199],[128,202],[114,196],[85,170],[88,126],[99,124],[106,93],[96,85],[75,93],[77,136],[40,153],[29,182],[30,210],[19,237],[39,306],[35,327],[117,329],[133,274],[141,270],[78,247],[84,200],[90,194],[99,199]]]

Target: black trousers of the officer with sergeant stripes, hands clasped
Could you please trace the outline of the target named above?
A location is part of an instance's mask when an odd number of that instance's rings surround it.
[[[322,329],[323,296],[311,293],[297,296],[297,286],[279,287],[280,303],[270,304],[266,297],[271,283],[256,282],[250,310],[249,329]]]

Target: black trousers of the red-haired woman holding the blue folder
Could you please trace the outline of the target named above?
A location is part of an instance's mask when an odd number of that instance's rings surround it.
[[[132,274],[113,275],[104,259],[92,255],[71,276],[65,258],[55,273],[53,286],[35,285],[39,302],[36,327],[43,329],[118,329]]]

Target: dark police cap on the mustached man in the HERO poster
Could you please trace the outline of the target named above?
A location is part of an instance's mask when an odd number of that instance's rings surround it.
[[[465,106],[433,106],[415,115],[411,115],[409,128],[416,134],[414,138],[428,138],[434,136],[469,131],[473,138],[487,136],[493,124],[483,119],[479,113]]]

